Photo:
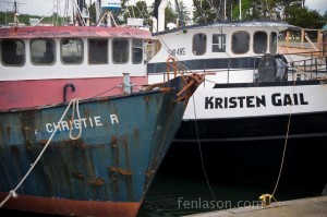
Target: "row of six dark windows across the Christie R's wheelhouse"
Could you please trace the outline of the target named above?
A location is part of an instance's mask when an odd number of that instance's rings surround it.
[[[88,64],[109,63],[108,39],[88,39]],[[33,39],[31,46],[31,62],[35,65],[55,64],[56,43],[50,38]],[[143,40],[132,40],[132,63],[143,61]],[[112,62],[123,64],[129,62],[130,41],[125,38],[114,38],[111,41]],[[20,39],[1,40],[1,62],[5,65],[23,65],[25,63],[25,44]],[[60,40],[60,55],[63,64],[81,64],[84,60],[84,43],[80,38],[63,38]]]

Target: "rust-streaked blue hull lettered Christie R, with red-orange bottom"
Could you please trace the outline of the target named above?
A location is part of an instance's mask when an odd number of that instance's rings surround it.
[[[47,147],[17,189],[19,198],[4,207],[135,216],[196,88],[178,94],[185,85],[178,77],[158,91],[85,100],[74,118],[71,108],[60,122],[68,105],[0,112],[2,198]],[[77,140],[70,137],[70,126],[73,137],[82,130]]]

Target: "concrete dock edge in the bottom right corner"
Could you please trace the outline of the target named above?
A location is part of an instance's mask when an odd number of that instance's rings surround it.
[[[327,217],[327,195],[271,203],[269,207],[239,207],[187,217]]]

